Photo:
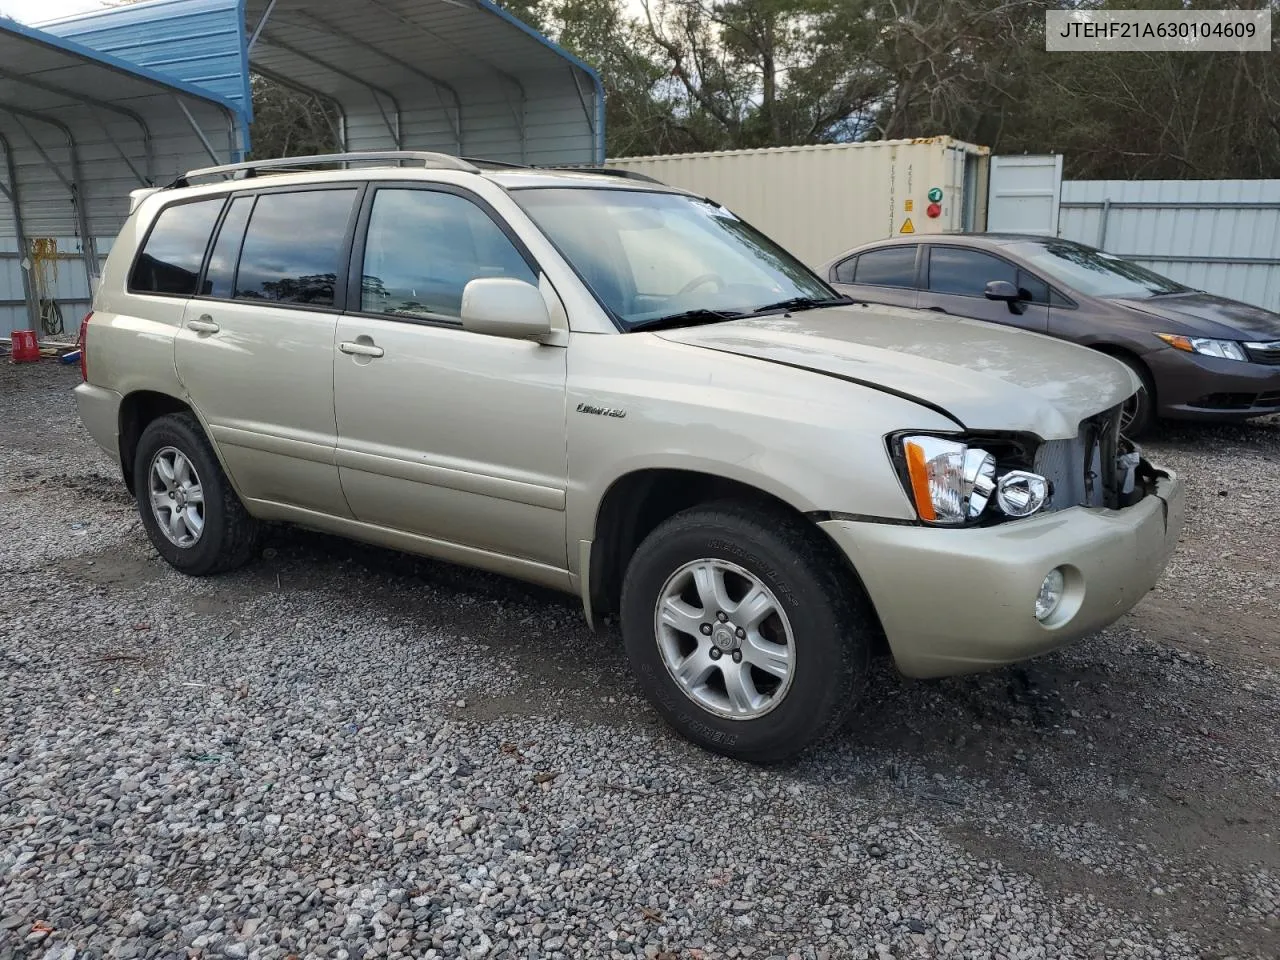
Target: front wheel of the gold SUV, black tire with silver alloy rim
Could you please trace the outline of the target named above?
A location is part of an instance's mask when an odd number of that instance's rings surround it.
[[[876,620],[836,549],[782,511],[687,509],[640,544],[622,639],[659,714],[700,746],[787,759],[841,728]]]

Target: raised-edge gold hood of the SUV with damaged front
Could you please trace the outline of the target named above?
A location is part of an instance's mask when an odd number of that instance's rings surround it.
[[[1066,340],[878,305],[655,335],[905,396],[968,429],[1029,431],[1046,440],[1074,438],[1082,420],[1123,402],[1139,385],[1124,364]]]

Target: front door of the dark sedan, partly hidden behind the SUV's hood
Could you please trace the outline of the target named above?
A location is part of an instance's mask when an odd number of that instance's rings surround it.
[[[1037,333],[1048,330],[1048,285],[1034,274],[974,247],[925,243],[924,250],[924,284],[916,301],[920,308]],[[1012,308],[1005,301],[987,300],[992,280],[1007,280],[1024,300]]]

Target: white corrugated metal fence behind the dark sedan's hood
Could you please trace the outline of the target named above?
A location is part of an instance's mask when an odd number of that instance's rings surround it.
[[[1064,180],[1059,236],[1280,311],[1280,180]]]

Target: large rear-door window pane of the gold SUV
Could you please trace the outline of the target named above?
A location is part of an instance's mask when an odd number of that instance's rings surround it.
[[[355,189],[262,193],[244,232],[237,300],[332,307]]]

